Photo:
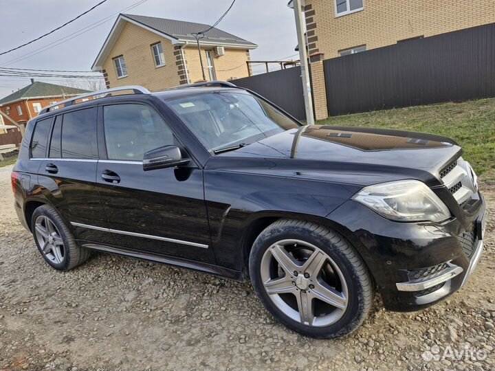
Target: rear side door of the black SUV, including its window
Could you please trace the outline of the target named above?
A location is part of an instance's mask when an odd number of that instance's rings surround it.
[[[96,110],[56,115],[38,180],[47,199],[74,227],[76,239],[105,243],[111,239],[98,230],[107,227],[107,219],[96,189]]]

